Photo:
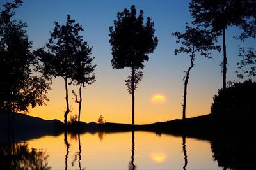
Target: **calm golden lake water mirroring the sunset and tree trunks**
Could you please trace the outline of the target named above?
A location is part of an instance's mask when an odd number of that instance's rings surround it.
[[[31,169],[223,169],[214,161],[209,141],[143,131],[63,133],[11,148],[25,158],[16,166]]]

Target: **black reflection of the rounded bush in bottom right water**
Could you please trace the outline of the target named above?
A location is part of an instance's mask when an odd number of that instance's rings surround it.
[[[212,157],[223,169],[256,169],[255,141],[249,136],[213,139],[211,149]]]

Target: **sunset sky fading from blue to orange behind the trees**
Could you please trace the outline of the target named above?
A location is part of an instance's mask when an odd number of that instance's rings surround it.
[[[6,0],[1,0],[1,6]],[[144,17],[151,17],[154,21],[155,36],[159,39],[156,50],[150,54],[145,62],[143,79],[135,93],[135,124],[148,124],[182,118],[182,100],[184,93],[184,71],[189,67],[189,56],[174,55],[175,38],[171,33],[184,32],[185,23],[190,25],[193,18],[189,13],[188,0],[109,0],[109,1],[42,1],[24,0],[24,4],[15,10],[15,18],[28,25],[29,41],[33,42],[32,50],[45,46],[50,38],[50,31],[54,29],[54,21],[65,24],[67,15],[79,22],[84,31],[81,32],[84,41],[93,46],[92,57],[95,68],[96,81],[82,91],[83,103],[81,121],[97,122],[102,115],[106,122],[131,124],[132,97],[127,92],[125,80],[130,69],[113,69],[111,66],[111,46],[109,45],[109,26],[113,26],[116,14],[124,8],[136,6],[136,10],[143,10]],[[1,7],[2,9],[2,7]],[[238,36],[241,30],[228,27],[227,45],[227,81],[243,81],[237,78],[236,63],[241,60],[237,54],[238,46],[253,46],[255,39],[244,42],[232,38]],[[218,45],[221,45],[219,38]],[[213,59],[204,59],[196,55],[195,67],[191,70],[188,84],[186,117],[195,117],[210,113],[214,94],[222,86],[220,63],[223,54],[212,52]],[[52,90],[48,93],[47,106],[29,108],[28,115],[46,120],[58,119],[63,121],[65,106],[65,84],[63,78],[54,78]],[[71,113],[76,115],[78,105],[73,102],[72,90],[78,93],[78,88],[70,85],[69,101]],[[157,101],[156,95],[159,97]],[[154,98],[152,98],[154,97]]]

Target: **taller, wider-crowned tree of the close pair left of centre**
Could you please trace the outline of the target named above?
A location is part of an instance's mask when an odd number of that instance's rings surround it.
[[[90,61],[93,60],[88,57],[92,49],[87,46],[86,42],[83,42],[83,37],[79,35],[83,28],[75,20],[72,20],[70,15],[67,15],[65,25],[61,26],[58,22],[54,22],[54,24],[54,31],[51,32],[51,38],[46,44],[48,50],[45,51],[44,48],[39,48],[34,53],[42,62],[38,69],[45,76],[60,76],[65,81],[67,110],[64,113],[64,123],[67,125],[67,116],[70,112],[68,84],[70,85],[72,81],[76,81],[77,84],[81,83],[81,86],[83,86],[86,83],[83,76],[90,72],[87,71],[86,66],[90,66]],[[77,76],[78,73],[83,73],[83,75]],[[68,80],[71,82],[68,83]]]

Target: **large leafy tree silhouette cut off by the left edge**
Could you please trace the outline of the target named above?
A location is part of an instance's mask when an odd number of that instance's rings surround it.
[[[36,57],[30,52],[26,23],[12,19],[22,1],[3,5],[0,12],[0,112],[28,112],[28,107],[41,106],[48,99],[49,84],[43,76],[32,74]]]

